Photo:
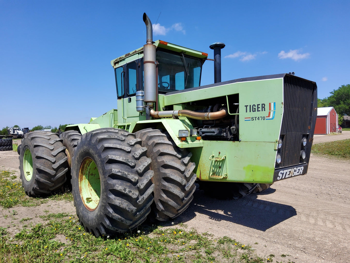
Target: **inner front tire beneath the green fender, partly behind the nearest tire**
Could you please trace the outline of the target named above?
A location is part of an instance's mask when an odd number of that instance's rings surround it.
[[[193,173],[195,163],[190,162],[192,154],[177,147],[165,130],[148,128],[137,131],[136,136],[147,148],[154,171],[150,219],[167,221],[180,215],[193,200],[197,176]]]

